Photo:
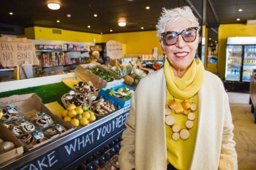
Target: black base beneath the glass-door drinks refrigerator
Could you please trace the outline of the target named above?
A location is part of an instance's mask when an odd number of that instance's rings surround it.
[[[250,82],[223,81],[226,91],[249,93]]]

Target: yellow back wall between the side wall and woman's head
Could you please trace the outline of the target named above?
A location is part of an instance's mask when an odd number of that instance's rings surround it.
[[[115,40],[126,44],[126,54],[151,54],[154,47],[158,48],[158,54],[163,53],[156,31],[105,34],[101,40]]]

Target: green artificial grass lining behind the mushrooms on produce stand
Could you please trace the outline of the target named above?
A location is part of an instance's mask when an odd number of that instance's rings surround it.
[[[0,98],[12,96],[12,95],[36,93],[39,97],[42,98],[42,102],[44,104],[57,101],[59,104],[63,106],[61,102],[61,96],[63,94],[68,93],[70,90],[72,89],[70,89],[67,85],[61,82],[61,83],[47,84],[47,85],[36,86],[36,87],[28,87],[25,89],[1,92]]]

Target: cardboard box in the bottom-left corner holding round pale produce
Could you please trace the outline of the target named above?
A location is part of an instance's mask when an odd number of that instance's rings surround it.
[[[9,152],[0,154],[0,164],[5,163],[8,160],[11,160],[15,157],[18,157],[23,154],[23,145],[20,140],[18,140],[12,133],[5,128],[3,124],[0,123],[0,138],[4,141],[13,142],[15,149],[12,149]]]

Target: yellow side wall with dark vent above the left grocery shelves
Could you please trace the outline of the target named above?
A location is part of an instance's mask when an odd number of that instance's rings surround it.
[[[62,30],[62,34],[53,34],[52,28],[34,27],[35,38],[42,40],[59,40],[59,41],[74,41],[74,42],[101,42],[100,34],[84,33],[70,30]],[[27,28],[26,28],[27,29]],[[58,29],[58,28],[54,28]],[[26,35],[27,36],[27,35]]]

